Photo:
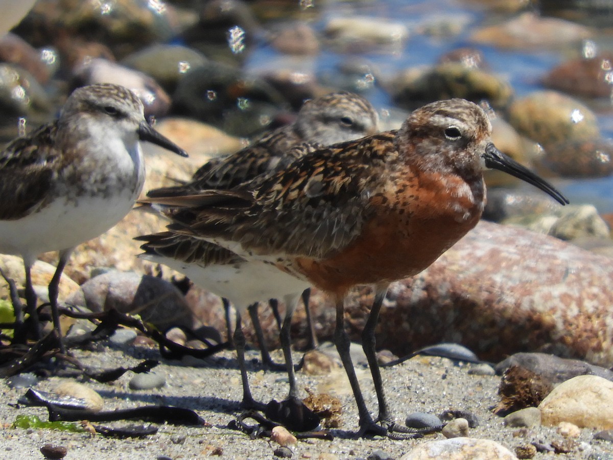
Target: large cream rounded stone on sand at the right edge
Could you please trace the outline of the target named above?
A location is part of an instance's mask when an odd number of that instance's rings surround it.
[[[613,382],[579,375],[555,387],[539,409],[547,426],[568,421],[582,428],[613,429]]]

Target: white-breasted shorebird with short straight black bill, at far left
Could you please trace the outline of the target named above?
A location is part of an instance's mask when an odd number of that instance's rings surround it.
[[[148,125],[132,91],[101,84],[75,90],[58,120],[1,151],[0,253],[23,258],[27,311],[37,337],[32,264],[41,253],[59,251],[49,299],[61,342],[59,278],[72,248],[107,231],[132,209],[145,181],[140,140],[187,156]],[[15,336],[23,338],[26,323],[19,307],[15,316]],[[60,348],[65,351],[63,344]]]

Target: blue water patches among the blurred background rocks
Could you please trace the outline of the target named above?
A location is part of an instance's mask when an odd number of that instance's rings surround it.
[[[468,37],[473,30],[495,19],[491,13],[478,9],[478,4],[478,2],[453,0],[326,2],[322,7],[322,14],[311,22],[319,33],[322,33],[329,18],[360,15],[403,23],[409,29],[409,39],[397,53],[365,52],[351,55],[324,47],[322,52],[314,57],[315,72],[322,80],[329,75],[338,74],[341,63],[360,59],[378,69],[383,79],[390,79],[407,67],[435,64],[441,55],[455,48],[473,47],[481,50],[485,63],[493,72],[502,75],[511,83],[516,96],[521,97],[532,91],[544,89],[540,83],[543,75],[552,67],[562,63],[566,57],[561,52],[552,50],[500,50],[491,46],[471,44]],[[459,21],[465,22],[466,26],[462,33],[451,37],[432,37],[417,33],[421,25],[441,17],[457,17]],[[606,51],[606,49],[601,50]],[[266,63],[275,63],[282,58],[280,53],[262,42],[252,50],[246,67],[262,69]],[[375,85],[365,91],[364,95],[378,109],[392,106],[389,94],[381,86]],[[595,104],[590,106],[594,107]],[[598,115],[603,137],[613,137],[611,104],[606,101],[601,104]],[[568,194],[573,203],[592,203],[600,212],[613,212],[613,177],[598,180],[565,180],[557,182],[556,185]]]

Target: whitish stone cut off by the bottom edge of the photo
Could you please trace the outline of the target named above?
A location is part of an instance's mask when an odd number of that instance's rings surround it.
[[[400,460],[516,460],[506,447],[489,439],[454,438],[425,442],[418,445]]]

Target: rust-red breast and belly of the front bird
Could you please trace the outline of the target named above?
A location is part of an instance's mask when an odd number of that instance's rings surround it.
[[[375,217],[347,247],[326,259],[296,258],[294,267],[338,295],[355,285],[393,282],[430,266],[481,217],[482,186],[467,187],[459,177],[396,185],[395,193],[372,198]]]

